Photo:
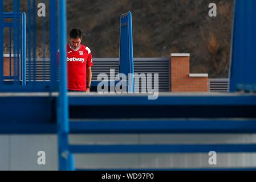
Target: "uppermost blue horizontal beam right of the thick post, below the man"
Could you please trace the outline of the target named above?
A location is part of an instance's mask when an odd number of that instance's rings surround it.
[[[166,105],[166,106],[229,106],[243,105],[256,106],[256,94],[160,94],[157,100],[148,100],[143,94],[91,94],[69,96],[70,105],[73,106],[109,106],[109,105]]]

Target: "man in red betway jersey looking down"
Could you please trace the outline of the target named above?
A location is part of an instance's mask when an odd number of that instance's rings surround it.
[[[82,31],[72,29],[67,44],[67,81],[69,92],[90,92],[92,80],[92,53],[81,44]],[[59,56],[58,56],[59,57]]]

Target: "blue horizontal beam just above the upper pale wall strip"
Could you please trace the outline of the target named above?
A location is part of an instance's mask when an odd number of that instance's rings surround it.
[[[146,121],[71,121],[70,133],[256,133],[256,119],[148,119]]]

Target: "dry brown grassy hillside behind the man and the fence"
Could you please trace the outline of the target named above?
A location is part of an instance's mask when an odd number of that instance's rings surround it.
[[[5,1],[6,7],[8,2]],[[208,16],[211,2],[67,0],[67,27],[68,31],[75,27],[82,29],[82,43],[91,48],[94,57],[117,57],[119,17],[132,11],[135,57],[169,57],[172,52],[189,52],[192,72],[205,71],[210,77],[227,77],[234,1],[214,0],[216,18]],[[26,11],[23,1],[21,4],[22,10]],[[46,22],[49,22],[48,18]],[[37,30],[42,35],[40,19]],[[48,31],[46,37],[49,37]],[[42,57],[40,42],[37,46],[36,56]]]

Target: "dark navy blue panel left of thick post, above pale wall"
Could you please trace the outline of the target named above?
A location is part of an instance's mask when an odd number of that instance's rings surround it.
[[[0,95],[0,134],[56,134],[55,100],[47,95],[4,94]]]

